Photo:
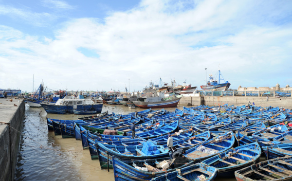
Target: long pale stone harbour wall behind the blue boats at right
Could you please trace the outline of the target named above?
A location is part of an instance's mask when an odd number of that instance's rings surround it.
[[[283,107],[292,109],[292,97],[254,97],[254,96],[203,96],[203,97],[182,97],[179,105],[186,106],[219,106],[223,104],[242,106],[247,105],[249,102],[255,103],[256,106],[261,107]]]

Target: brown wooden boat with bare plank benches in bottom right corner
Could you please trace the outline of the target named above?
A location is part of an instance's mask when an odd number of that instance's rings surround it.
[[[237,181],[291,181],[292,157],[267,160],[235,171]]]

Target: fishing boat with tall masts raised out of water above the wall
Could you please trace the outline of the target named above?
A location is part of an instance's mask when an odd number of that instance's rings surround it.
[[[225,80],[222,77],[222,74],[220,70],[218,71],[219,81],[215,80],[213,75],[209,75],[209,81],[207,82],[207,85],[201,86],[202,90],[205,91],[226,91],[228,90],[230,83],[228,81],[225,82]],[[224,83],[220,83],[220,80],[223,80]]]

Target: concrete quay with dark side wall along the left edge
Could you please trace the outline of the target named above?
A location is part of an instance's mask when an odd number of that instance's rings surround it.
[[[24,113],[23,99],[0,99],[0,181],[14,180]]]

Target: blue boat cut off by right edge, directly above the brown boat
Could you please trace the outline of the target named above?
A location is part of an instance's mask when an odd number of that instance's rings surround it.
[[[262,147],[266,154],[267,160],[275,159],[277,157],[292,156],[292,144],[279,144]]]

